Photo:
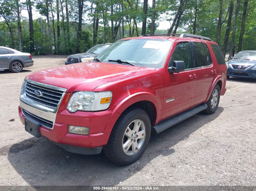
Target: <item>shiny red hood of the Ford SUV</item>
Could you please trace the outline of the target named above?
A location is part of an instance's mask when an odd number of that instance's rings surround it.
[[[26,78],[61,88],[67,92],[93,91],[99,85],[121,78],[151,73],[155,68],[119,65],[100,62],[84,62],[49,68],[28,75]]]

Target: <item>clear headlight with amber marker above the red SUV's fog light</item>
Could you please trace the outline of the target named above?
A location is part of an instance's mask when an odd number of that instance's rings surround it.
[[[76,111],[101,111],[108,109],[112,99],[111,91],[93,92],[77,91],[68,101],[67,110]]]

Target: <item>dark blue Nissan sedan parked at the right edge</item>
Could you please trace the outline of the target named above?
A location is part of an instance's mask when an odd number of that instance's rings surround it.
[[[256,50],[244,50],[227,62],[228,76],[256,78]]]

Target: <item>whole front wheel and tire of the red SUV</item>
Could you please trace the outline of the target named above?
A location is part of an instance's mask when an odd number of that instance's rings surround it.
[[[125,110],[112,129],[105,155],[114,163],[128,165],[137,161],[148,146],[151,122],[140,108]]]

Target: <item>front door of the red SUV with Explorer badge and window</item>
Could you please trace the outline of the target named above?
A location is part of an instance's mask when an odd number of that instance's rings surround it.
[[[168,67],[172,66],[173,61],[184,61],[185,71],[170,74],[167,68],[165,68],[163,119],[180,113],[194,105],[197,76],[191,53],[192,49],[189,42],[176,43]]]

